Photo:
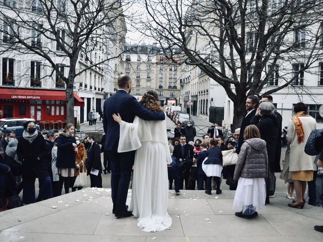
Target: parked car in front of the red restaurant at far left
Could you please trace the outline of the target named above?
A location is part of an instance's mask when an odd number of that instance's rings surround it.
[[[14,130],[16,132],[16,137],[22,136],[24,132],[23,125],[27,121],[35,122],[32,118],[20,118],[20,117],[8,117],[0,119],[0,129],[3,133],[7,133],[9,130]],[[35,122],[36,123],[36,122]],[[36,129],[39,131],[39,125],[36,125]]]

